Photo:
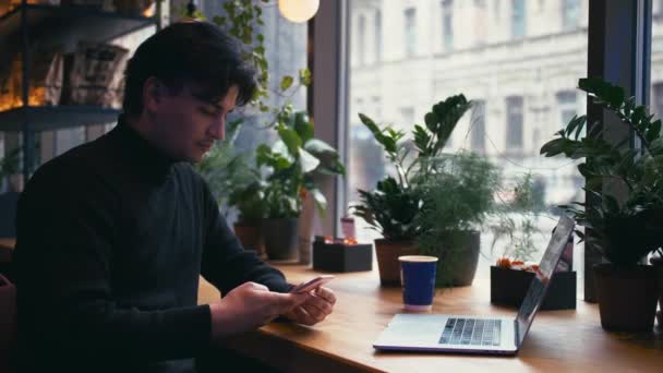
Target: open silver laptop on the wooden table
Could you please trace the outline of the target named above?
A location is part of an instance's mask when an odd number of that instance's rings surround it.
[[[373,344],[377,350],[516,354],[532,325],[575,222],[562,216],[516,320],[481,315],[397,314]]]

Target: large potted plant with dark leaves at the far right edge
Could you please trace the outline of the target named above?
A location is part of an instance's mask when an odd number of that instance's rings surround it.
[[[596,125],[581,136],[584,116],[574,118],[541,148],[552,157],[586,158],[588,202],[562,206],[584,227],[579,237],[608,262],[594,267],[601,324],[612,330],[651,330],[658,288],[653,266],[642,260],[663,246],[663,140],[661,121],[624,89],[600,79],[580,79],[579,89],[627,125],[639,149],[608,143]]]

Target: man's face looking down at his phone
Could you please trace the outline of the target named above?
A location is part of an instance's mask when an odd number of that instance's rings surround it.
[[[238,93],[233,85],[214,103],[201,98],[202,89],[194,84],[177,94],[161,94],[150,109],[152,140],[174,160],[201,161],[215,140],[224,140],[226,116],[234,109]]]

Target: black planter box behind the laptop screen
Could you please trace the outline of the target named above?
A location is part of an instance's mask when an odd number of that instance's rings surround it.
[[[491,266],[491,303],[520,306],[534,274]],[[576,272],[556,272],[541,310],[576,309]]]

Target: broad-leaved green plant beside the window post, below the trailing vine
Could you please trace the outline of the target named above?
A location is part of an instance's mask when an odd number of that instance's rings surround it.
[[[267,169],[264,189],[266,217],[298,217],[305,193],[311,193],[318,213],[324,214],[327,201],[317,178],[343,175],[345,167],[336,149],[313,137],[313,122],[305,112],[287,107],[276,124],[279,140],[269,147],[257,148],[257,166]]]

